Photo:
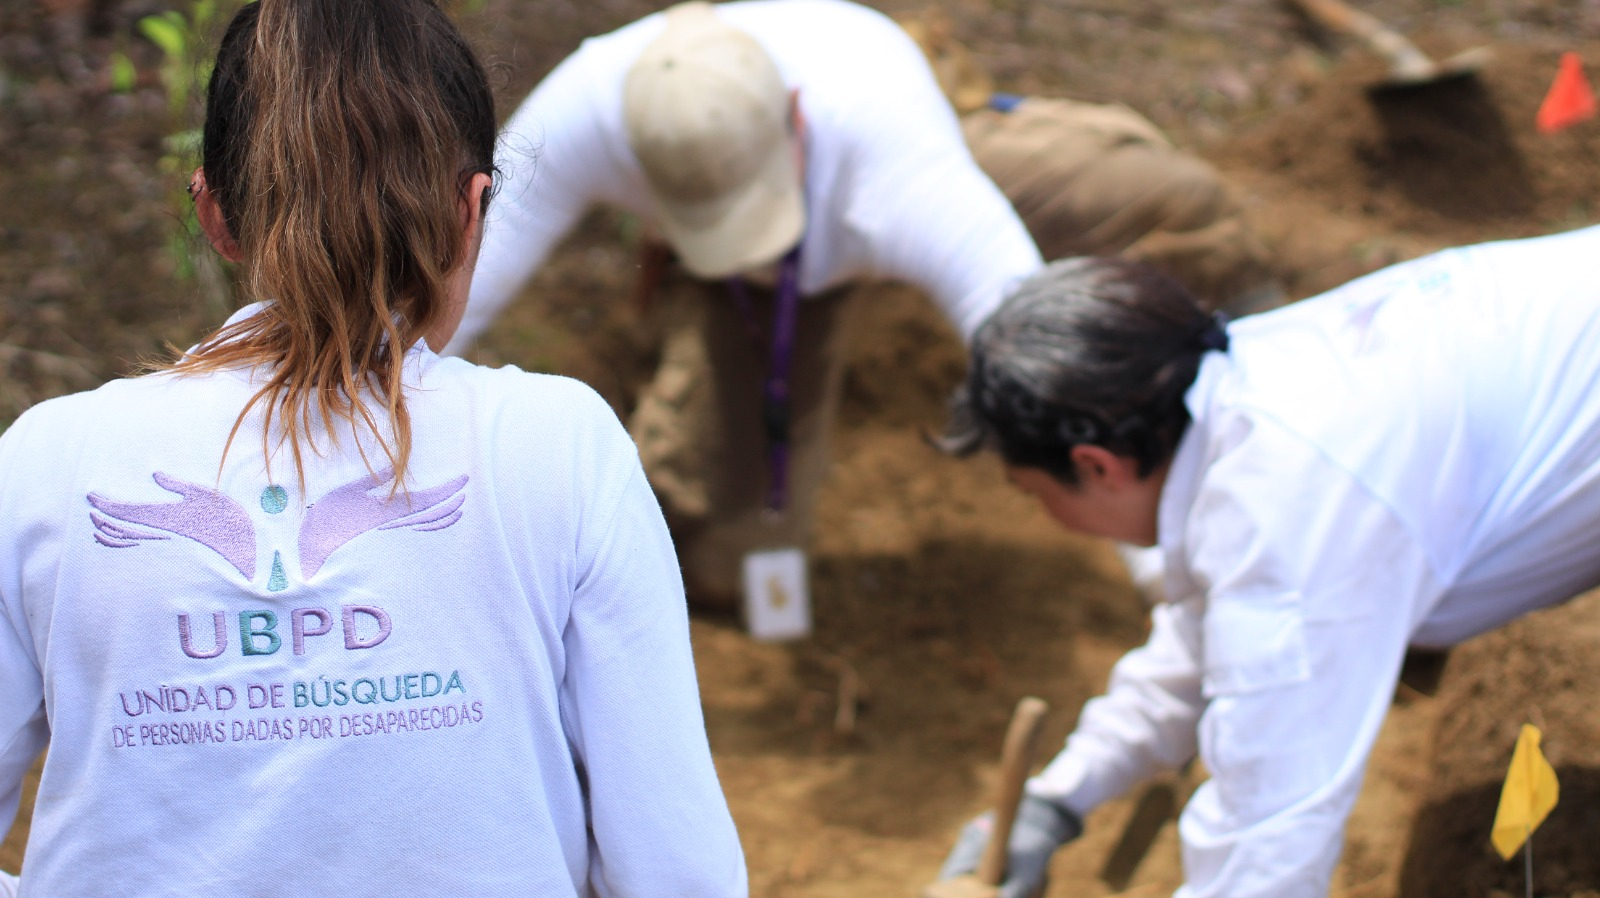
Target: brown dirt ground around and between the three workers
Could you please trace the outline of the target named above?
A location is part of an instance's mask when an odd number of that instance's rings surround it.
[[[578,42],[659,3],[483,0],[461,21],[493,61],[502,114]],[[1437,54],[1486,45],[1477,80],[1376,96],[1382,66],[1280,0],[910,0],[938,8],[1002,90],[1123,102],[1237,187],[1293,298],[1419,253],[1600,219],[1600,122],[1546,136],[1539,99],[1562,51],[1600,62],[1597,0],[1384,0],[1365,6]],[[0,426],[61,392],[187,344],[226,304],[179,277],[182,160],[165,138],[160,53],[139,16],[179,0],[0,5]],[[138,78],[112,90],[112,56]],[[582,378],[626,415],[653,335],[626,301],[630,222],[590,216],[478,351]],[[992,459],[952,461],[942,423],[962,349],[920,295],[869,287],[814,547],[816,634],[747,639],[696,613],[712,749],[752,895],[914,895],[984,807],[1010,709],[1051,703],[1061,744],[1146,615],[1107,546],[1056,531]],[[1563,810],[1541,831],[1541,895],[1600,895],[1600,602],[1454,651],[1440,692],[1403,685],[1347,829],[1333,895],[1522,895],[1488,845],[1517,727],[1546,727]],[[840,696],[859,685],[859,703]],[[1437,748],[1435,748],[1437,744]],[[1171,784],[1179,797],[1203,773]],[[1174,826],[1122,892],[1101,879],[1138,794],[1091,815],[1051,895],[1165,895]],[[1546,836],[1550,832],[1552,836]],[[18,869],[27,807],[0,845]],[[1541,842],[1542,844],[1542,842]]]

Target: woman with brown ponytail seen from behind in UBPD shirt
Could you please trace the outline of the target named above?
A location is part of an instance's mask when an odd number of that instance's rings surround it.
[[[190,181],[251,304],[0,437],[0,895],[744,895],[661,511],[437,349],[494,109],[430,0],[259,0]]]

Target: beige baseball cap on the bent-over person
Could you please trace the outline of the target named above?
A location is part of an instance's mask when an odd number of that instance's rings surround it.
[[[789,88],[750,35],[710,3],[666,11],[622,83],[622,120],[661,231],[699,277],[774,261],[805,232]]]

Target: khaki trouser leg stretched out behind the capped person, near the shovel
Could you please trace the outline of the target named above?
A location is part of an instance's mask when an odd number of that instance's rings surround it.
[[[1258,311],[1267,253],[1216,170],[1125,106],[1027,98],[962,120],[978,165],[1046,259],[1149,261],[1208,307]]]

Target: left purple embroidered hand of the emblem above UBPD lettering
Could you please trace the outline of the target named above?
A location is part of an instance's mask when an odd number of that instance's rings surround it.
[[[256,576],[256,525],[245,514],[245,506],[216,490],[168,477],[160,471],[150,477],[160,488],[182,498],[176,503],[139,504],[114,503],[94,493],[88,495],[90,504],[101,512],[90,512],[94,539],[101,546],[126,549],[146,539],[170,539],[141,530],[149,527],[200,543],[227,559],[245,579]]]

